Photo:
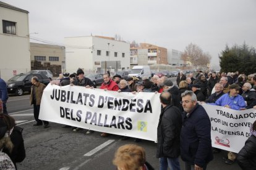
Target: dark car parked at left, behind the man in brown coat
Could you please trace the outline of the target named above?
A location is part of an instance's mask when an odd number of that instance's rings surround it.
[[[49,84],[49,78],[44,74],[30,73],[30,74],[19,74],[9,79],[7,84],[7,91],[9,94],[23,95],[24,92],[31,91],[31,78],[33,76],[38,77],[40,83]]]

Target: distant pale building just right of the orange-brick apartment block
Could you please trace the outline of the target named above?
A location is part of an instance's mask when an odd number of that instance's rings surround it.
[[[181,59],[182,52],[174,49],[168,49],[167,58],[169,65],[175,65],[177,67],[182,66],[184,61]]]

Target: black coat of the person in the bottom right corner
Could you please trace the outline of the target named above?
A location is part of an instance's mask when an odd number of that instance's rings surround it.
[[[250,136],[237,155],[237,163],[244,170],[256,169],[256,137]]]

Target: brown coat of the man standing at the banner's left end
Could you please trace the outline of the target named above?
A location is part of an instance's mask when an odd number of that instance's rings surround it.
[[[33,97],[33,90],[34,89],[35,89],[35,99],[36,99],[36,101],[34,101],[34,97]],[[41,99],[42,99],[44,89],[45,89],[45,84],[40,83],[40,82],[37,82],[36,84],[33,84],[31,86],[30,105],[32,105],[32,104],[40,105],[41,104]]]

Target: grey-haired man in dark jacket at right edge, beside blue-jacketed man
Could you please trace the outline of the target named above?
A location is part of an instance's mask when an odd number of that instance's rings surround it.
[[[253,108],[256,105],[256,92],[252,89],[252,85],[250,83],[244,83],[242,91],[242,97],[244,97],[244,100],[247,103],[246,108]]]

